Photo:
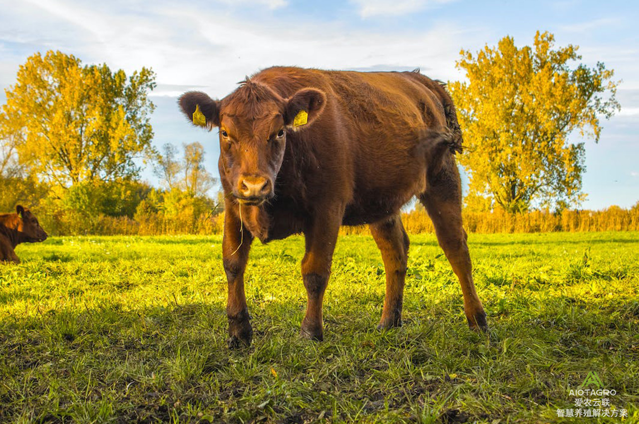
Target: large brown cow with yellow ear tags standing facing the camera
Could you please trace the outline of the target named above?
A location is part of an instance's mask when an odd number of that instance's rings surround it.
[[[417,195],[461,282],[473,329],[486,314],[473,284],[454,151],[461,131],[443,84],[415,72],[268,68],[222,100],[180,97],[196,125],[219,127],[226,193],[222,253],[229,345],[250,344],[244,270],[253,238],[304,233],[302,336],[323,339],[322,299],[340,225],[367,223],[381,250],[380,328],[401,325],[408,236],[399,210]]]

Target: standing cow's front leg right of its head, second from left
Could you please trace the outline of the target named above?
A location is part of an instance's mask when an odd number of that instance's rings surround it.
[[[304,232],[306,253],[302,259],[302,279],[308,303],[300,334],[310,340],[324,339],[322,302],[342,215],[343,209],[339,209],[333,214],[317,217]]]

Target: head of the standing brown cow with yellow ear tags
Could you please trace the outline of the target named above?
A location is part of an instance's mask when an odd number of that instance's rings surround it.
[[[219,128],[220,178],[242,204],[259,205],[275,195],[286,135],[303,130],[321,114],[326,96],[305,88],[282,98],[263,84],[246,80],[222,100],[199,91],[180,97],[194,125]]]

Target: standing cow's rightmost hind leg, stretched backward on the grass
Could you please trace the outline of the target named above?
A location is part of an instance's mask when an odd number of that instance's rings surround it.
[[[439,245],[459,278],[468,326],[487,331],[486,312],[475,291],[467,235],[461,225],[459,174],[454,162],[448,162],[448,165],[438,175],[429,176],[429,188],[420,195],[420,201],[433,221]]]

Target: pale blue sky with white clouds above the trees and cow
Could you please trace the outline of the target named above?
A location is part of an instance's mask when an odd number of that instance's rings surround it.
[[[631,1],[471,0],[0,0],[0,102],[20,64],[61,50],[84,63],[157,73],[156,146],[199,141],[217,176],[216,132],[192,128],[176,107],[190,89],[222,98],[236,82],[275,64],[350,70],[412,70],[459,80],[459,50],[505,35],[530,45],[538,29],[557,46],[580,46],[581,62],[603,61],[622,80],[622,110],[587,141],[582,205],[639,201],[639,6]],[[577,138],[575,138],[577,139]],[[150,170],[143,177],[157,183]]]

